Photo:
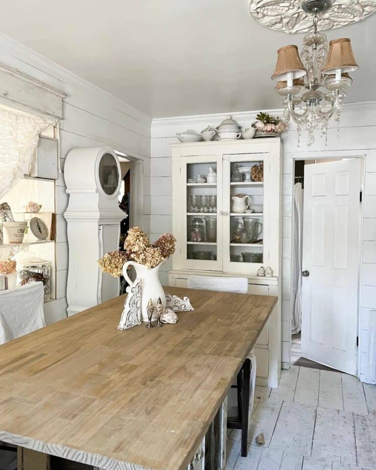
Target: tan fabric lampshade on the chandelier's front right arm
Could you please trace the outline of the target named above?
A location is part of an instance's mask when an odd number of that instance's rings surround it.
[[[336,69],[341,69],[342,72],[352,72],[359,69],[349,38],[334,39],[329,43],[327,61],[322,68],[322,72],[330,74]]]

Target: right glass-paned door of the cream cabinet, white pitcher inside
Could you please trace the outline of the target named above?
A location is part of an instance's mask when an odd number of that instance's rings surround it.
[[[223,270],[256,274],[265,265],[265,159],[268,154],[223,158]]]

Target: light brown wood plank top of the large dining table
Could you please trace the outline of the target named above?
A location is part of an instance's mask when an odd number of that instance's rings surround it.
[[[195,310],[120,331],[121,296],[0,346],[0,440],[103,469],[186,469],[277,298],[165,291]]]

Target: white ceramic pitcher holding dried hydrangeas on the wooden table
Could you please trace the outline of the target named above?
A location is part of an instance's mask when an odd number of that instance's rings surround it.
[[[127,261],[123,266],[123,276],[124,279],[128,282],[130,286],[133,285],[133,282],[128,276],[127,268],[128,266],[133,266],[136,270],[137,279],[142,280],[141,285],[141,322],[148,322],[146,305],[149,302],[149,299],[153,301],[153,304],[156,305],[158,298],[162,300],[162,305],[166,306],[166,298],[164,295],[164,290],[162,284],[159,280],[159,270],[162,264],[159,264],[155,268],[147,268],[143,264],[136,263],[135,261]],[[152,320],[157,320],[156,313],[153,313]]]

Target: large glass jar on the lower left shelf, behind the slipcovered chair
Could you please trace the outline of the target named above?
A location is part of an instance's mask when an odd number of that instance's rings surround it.
[[[17,285],[25,285],[28,282],[43,282],[45,290],[45,302],[50,299],[51,288],[51,263],[42,258],[29,258],[17,262]]]

